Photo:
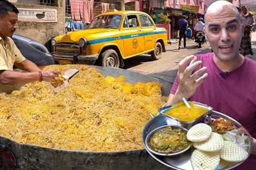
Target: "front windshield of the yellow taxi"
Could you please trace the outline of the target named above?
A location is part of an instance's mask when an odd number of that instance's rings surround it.
[[[95,18],[89,26],[93,28],[119,28],[122,16],[121,15],[103,15]]]

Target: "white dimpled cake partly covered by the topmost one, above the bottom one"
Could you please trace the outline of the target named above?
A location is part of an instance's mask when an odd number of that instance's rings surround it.
[[[212,132],[211,137],[202,142],[194,142],[194,147],[196,149],[206,151],[206,152],[215,152],[220,150],[224,145],[224,140],[222,139],[219,133]]]

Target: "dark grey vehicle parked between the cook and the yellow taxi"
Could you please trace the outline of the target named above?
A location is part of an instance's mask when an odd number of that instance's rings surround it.
[[[43,44],[38,43],[33,39],[15,34],[12,36],[12,39],[15,45],[19,48],[21,54],[36,65],[54,64],[53,56]]]

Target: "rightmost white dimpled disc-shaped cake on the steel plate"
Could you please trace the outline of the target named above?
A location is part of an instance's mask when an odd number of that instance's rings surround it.
[[[220,157],[228,162],[241,162],[248,156],[248,153],[239,145],[233,142],[225,141],[220,151]]]

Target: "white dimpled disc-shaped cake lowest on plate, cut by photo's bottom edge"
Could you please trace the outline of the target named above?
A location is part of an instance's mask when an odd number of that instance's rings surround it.
[[[219,163],[219,152],[203,152],[195,149],[191,155],[191,164],[194,170],[214,170]]]

